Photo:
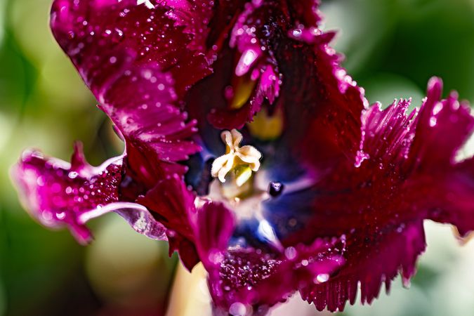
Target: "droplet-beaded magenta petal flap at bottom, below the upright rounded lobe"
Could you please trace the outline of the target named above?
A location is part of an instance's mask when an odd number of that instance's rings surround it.
[[[230,248],[218,269],[209,273],[213,301],[218,310],[242,304],[254,312],[284,302],[308,284],[327,282],[344,263],[344,243],[343,238],[317,239],[310,246],[299,244],[279,255]]]

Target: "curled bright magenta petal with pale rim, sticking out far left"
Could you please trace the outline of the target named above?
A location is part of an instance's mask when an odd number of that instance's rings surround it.
[[[13,169],[13,178],[34,218],[49,228],[69,228],[81,244],[92,238],[86,222],[110,211],[122,216],[137,232],[166,239],[164,227],[145,207],[119,202],[122,161],[123,157],[115,157],[93,167],[77,143],[71,164],[40,152],[25,152]]]

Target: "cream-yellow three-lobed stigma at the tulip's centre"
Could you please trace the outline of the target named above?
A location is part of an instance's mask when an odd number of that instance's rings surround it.
[[[262,154],[253,146],[239,147],[242,142],[242,134],[237,129],[223,131],[220,138],[225,143],[225,154],[214,160],[211,175],[225,183],[225,176],[235,170],[235,181],[240,187],[251,178],[252,171],[258,171]]]

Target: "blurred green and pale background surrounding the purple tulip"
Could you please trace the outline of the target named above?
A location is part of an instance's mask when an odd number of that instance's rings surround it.
[[[121,151],[49,32],[50,5],[0,0],[0,315],[161,315],[176,265],[166,244],[112,215],[92,224],[96,242],[81,247],[69,232],[34,223],[11,185],[9,169],[27,147],[69,159],[82,140],[92,164]],[[370,103],[411,96],[418,106],[437,75],[445,93],[456,88],[473,104],[474,0],[328,0],[322,11]],[[344,315],[474,315],[474,242],[459,247],[451,228],[426,228],[428,251],[411,289],[397,280],[390,297]]]

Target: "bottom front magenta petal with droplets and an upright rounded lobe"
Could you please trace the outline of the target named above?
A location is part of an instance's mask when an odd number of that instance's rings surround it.
[[[223,204],[204,202],[192,213],[199,256],[209,272],[209,289],[216,315],[239,305],[265,310],[286,301],[313,282],[327,282],[343,265],[345,241],[317,239],[312,245],[289,247],[284,254],[230,247],[234,216]]]

